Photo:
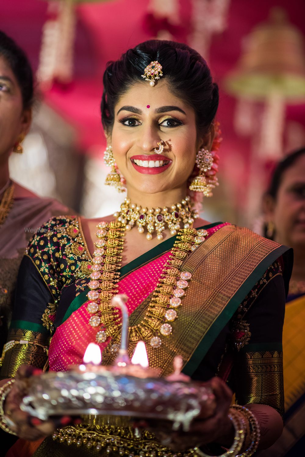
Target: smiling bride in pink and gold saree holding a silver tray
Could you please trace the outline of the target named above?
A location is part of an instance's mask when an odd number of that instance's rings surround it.
[[[195,202],[217,184],[217,106],[210,69],[184,44],[147,41],[108,64],[106,184],[127,197],[101,220],[53,218],[28,245],[1,371],[1,427],[20,437],[8,456],[251,456],[281,434],[290,252],[198,217]],[[67,370],[92,341],[102,363],[113,362],[116,293],[128,297],[130,355],[144,340],[150,367],[166,377],[180,354],[183,372],[213,389],[215,413],[189,432],[146,423],[138,437],[132,427],[40,422],[20,410],[37,368]]]

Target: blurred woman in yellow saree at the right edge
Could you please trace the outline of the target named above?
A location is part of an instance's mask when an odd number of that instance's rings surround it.
[[[294,266],[283,331],[285,426],[262,456],[294,457],[305,448],[305,148],[276,167],[264,212],[265,235],[294,249]]]

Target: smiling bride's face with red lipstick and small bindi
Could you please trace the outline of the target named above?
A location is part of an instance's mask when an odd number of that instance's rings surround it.
[[[164,149],[156,154],[160,140]],[[171,94],[164,80],[154,87],[135,83],[115,106],[109,143],[127,191],[186,190],[200,142],[194,109]]]

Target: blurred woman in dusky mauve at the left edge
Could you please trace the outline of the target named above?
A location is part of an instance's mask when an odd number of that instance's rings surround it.
[[[12,152],[22,153],[21,142],[32,121],[33,95],[32,69],[25,53],[0,31],[0,351],[26,244],[42,223],[68,212],[53,198],[40,198],[10,179],[9,157]]]

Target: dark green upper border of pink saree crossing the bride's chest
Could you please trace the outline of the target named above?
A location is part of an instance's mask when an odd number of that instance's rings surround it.
[[[215,223],[203,225],[202,227],[198,227],[196,229],[200,230],[201,228],[205,228],[205,230],[207,230],[208,228],[216,227],[216,225],[220,225],[222,223],[223,222],[215,222]],[[170,250],[174,246],[175,239],[176,239],[176,235],[166,239],[165,241],[158,244],[153,249],[150,249],[149,251],[140,255],[136,259],[131,260],[131,262],[129,262],[127,265],[125,265],[121,268],[120,280],[127,274],[131,273],[131,271],[134,271],[137,268],[140,268],[140,266],[143,266],[143,265],[147,264],[148,262],[151,262],[152,260],[157,258],[159,255],[162,255],[166,251]],[[152,253],[154,253],[154,255],[152,255]],[[84,304],[84,302],[87,299],[87,293],[88,292],[86,292],[86,291],[80,292],[80,294],[74,298],[74,300],[71,302],[70,306],[68,307],[67,311],[65,312],[61,324],[63,324],[71,316],[71,314],[74,313],[74,311],[76,311],[80,306],[82,306]]]

